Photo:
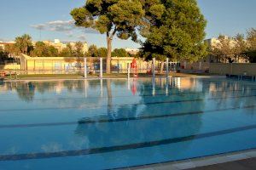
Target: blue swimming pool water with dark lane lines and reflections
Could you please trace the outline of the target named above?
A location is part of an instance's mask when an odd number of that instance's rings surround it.
[[[111,169],[256,148],[256,83],[0,82],[0,169]]]

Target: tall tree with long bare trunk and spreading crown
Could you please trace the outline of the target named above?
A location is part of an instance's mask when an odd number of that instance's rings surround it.
[[[144,2],[144,1],[142,1]],[[106,34],[107,73],[111,72],[113,37],[137,41],[137,27],[143,23],[143,5],[139,0],[87,0],[84,7],[71,12],[76,26],[93,28]]]

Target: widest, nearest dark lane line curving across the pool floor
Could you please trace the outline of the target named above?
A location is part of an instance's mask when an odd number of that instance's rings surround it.
[[[176,144],[180,142],[187,142],[195,139],[206,139],[211,137],[216,137],[220,135],[239,133],[242,131],[252,130],[256,128],[256,124],[249,125],[245,127],[234,127],[230,129],[215,131],[211,133],[199,133],[184,137],[177,137],[172,139],[161,139],[148,142],[141,142],[135,144],[123,144],[114,145],[108,147],[99,147],[84,150],[67,150],[67,151],[57,151],[57,152],[38,152],[38,153],[28,153],[28,154],[15,154],[15,155],[0,155],[0,161],[24,161],[24,160],[34,160],[34,159],[49,159],[56,157],[67,157],[67,156],[87,156],[92,154],[104,154],[114,151],[122,150],[136,150],[142,148],[149,148],[154,146],[166,145],[166,144]]]

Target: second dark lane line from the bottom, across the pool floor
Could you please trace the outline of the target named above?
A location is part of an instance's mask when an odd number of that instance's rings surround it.
[[[105,123],[105,122],[128,122],[128,121],[140,121],[147,119],[158,119],[166,117],[175,117],[175,116],[191,116],[191,115],[200,115],[207,114],[211,112],[218,111],[230,111],[230,110],[247,110],[255,108],[256,105],[247,105],[244,107],[230,107],[218,110],[209,110],[209,111],[189,111],[189,112],[180,112],[180,113],[170,113],[166,115],[155,115],[155,116],[138,116],[138,117],[123,117],[117,119],[102,119],[102,120],[81,120],[79,122],[49,122],[49,123],[32,123],[32,124],[15,124],[15,125],[0,125],[1,128],[20,128],[20,127],[56,127],[56,126],[67,126],[67,125],[77,125],[77,124],[96,124],[96,123]],[[83,119],[83,118],[82,118]]]

